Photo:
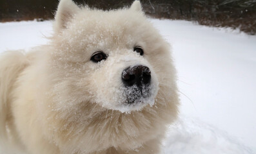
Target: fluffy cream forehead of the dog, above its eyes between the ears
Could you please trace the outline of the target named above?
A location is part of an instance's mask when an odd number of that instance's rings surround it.
[[[129,13],[132,12],[127,10],[112,12],[81,11],[70,22],[68,30],[64,32],[66,33],[64,35],[68,35],[68,37],[63,38],[69,38],[68,42],[73,40],[73,42],[83,42],[84,44],[95,44],[97,46],[104,46],[106,43],[108,45],[118,44],[120,46],[123,44],[126,46],[131,44],[133,46],[142,35],[144,26],[141,24],[145,19],[143,15],[137,15],[137,13],[133,13],[134,15],[130,17]]]

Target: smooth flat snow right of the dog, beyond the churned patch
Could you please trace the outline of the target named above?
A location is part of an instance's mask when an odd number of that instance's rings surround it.
[[[256,36],[188,21],[153,23],[173,47],[181,115],[212,124],[255,152]]]

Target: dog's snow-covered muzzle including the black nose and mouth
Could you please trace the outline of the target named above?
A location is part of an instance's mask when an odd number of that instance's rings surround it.
[[[154,105],[159,89],[152,65],[134,53],[109,55],[92,78],[95,103],[120,112]]]

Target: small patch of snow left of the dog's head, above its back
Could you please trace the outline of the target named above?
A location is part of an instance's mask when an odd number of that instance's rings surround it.
[[[52,22],[0,22],[0,52],[13,49],[30,49],[46,44],[50,37]]]

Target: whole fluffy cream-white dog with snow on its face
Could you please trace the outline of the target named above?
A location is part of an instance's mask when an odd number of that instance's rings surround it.
[[[168,43],[139,1],[104,12],[61,0],[50,44],[1,55],[1,146],[160,153],[177,117],[175,80]]]

